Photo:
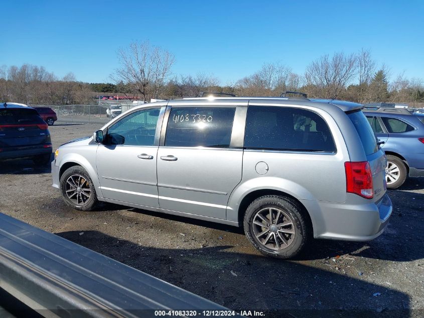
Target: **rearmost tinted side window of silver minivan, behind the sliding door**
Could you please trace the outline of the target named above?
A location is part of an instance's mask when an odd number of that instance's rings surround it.
[[[290,107],[249,106],[244,147],[336,152],[333,136],[321,116]]]

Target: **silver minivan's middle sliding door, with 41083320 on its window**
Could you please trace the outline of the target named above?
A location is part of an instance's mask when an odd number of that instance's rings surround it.
[[[235,106],[171,109],[158,151],[161,208],[226,218],[243,158],[242,149],[230,148],[235,111]]]

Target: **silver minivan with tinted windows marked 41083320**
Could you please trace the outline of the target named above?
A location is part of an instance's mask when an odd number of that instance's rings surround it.
[[[243,227],[278,258],[312,238],[372,240],[392,203],[361,108],[293,97],[143,104],[60,146],[53,186],[78,210],[106,201]]]

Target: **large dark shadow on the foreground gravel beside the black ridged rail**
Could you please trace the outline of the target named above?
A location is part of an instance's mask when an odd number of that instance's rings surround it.
[[[229,252],[230,246],[161,249],[97,231],[57,235],[234,310],[299,318],[409,315],[409,298],[397,290],[302,263]]]

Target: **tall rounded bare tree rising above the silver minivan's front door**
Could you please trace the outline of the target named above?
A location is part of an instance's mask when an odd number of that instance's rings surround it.
[[[149,42],[133,42],[128,49],[120,49],[118,59],[121,67],[112,78],[142,94],[144,101],[159,95],[174,64],[174,55]]]

